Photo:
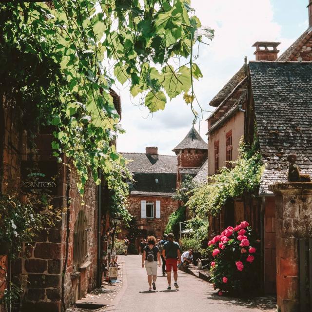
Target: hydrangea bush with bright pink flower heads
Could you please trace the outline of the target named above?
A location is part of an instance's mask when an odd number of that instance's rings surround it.
[[[246,295],[259,287],[260,240],[248,222],[228,227],[208,243],[211,282],[219,295]]]

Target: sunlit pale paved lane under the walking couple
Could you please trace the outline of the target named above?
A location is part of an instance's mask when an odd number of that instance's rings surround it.
[[[188,273],[179,271],[179,289],[167,291],[167,278],[158,268],[156,292],[148,291],[145,268],[140,266],[139,255],[120,256],[124,262],[123,287],[107,311],[118,312],[273,312],[273,309],[261,309],[261,304],[239,302],[233,298],[220,297],[212,286]],[[173,285],[172,285],[173,286]]]

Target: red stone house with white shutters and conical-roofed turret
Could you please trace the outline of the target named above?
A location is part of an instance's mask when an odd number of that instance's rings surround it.
[[[179,203],[172,199],[176,188],[186,175],[196,176],[207,164],[207,144],[192,127],[186,137],[174,148],[176,156],[159,155],[157,147],[147,147],[145,154],[122,153],[129,159],[128,169],[133,175],[129,195],[129,212],[134,215],[140,238],[164,234],[169,216]],[[203,170],[202,170],[203,172]],[[127,230],[120,234],[125,235]]]

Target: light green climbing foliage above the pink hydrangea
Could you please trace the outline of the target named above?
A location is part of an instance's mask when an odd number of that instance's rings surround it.
[[[253,194],[259,187],[263,172],[261,155],[256,147],[240,147],[240,156],[233,161],[233,169],[223,167],[220,173],[211,176],[211,183],[200,186],[187,205],[199,217],[216,215],[231,198]]]

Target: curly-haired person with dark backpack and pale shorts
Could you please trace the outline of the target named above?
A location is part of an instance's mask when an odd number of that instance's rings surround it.
[[[147,246],[144,247],[142,254],[142,268],[146,269],[147,280],[150,285],[149,291],[156,290],[156,279],[157,279],[157,264],[160,267],[160,254],[159,249],[156,245],[155,236],[147,237]],[[152,283],[153,278],[153,283]]]

